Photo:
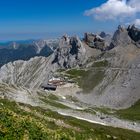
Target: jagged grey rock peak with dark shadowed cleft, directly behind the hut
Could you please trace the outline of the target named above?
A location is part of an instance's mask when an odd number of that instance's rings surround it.
[[[63,36],[53,56],[52,64],[61,68],[79,67],[87,60],[86,49],[78,37]]]

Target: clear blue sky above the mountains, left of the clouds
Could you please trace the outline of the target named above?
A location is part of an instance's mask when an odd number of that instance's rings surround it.
[[[112,0],[110,0],[112,1]],[[118,22],[85,11],[107,0],[1,0],[0,40],[51,38],[64,33],[111,32]]]

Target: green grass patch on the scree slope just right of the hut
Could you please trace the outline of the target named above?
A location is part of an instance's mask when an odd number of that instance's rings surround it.
[[[108,66],[108,61],[102,60],[94,62],[90,70],[71,69],[66,73],[69,78],[78,82],[78,85],[85,93],[89,93],[103,80],[105,77],[104,68]]]

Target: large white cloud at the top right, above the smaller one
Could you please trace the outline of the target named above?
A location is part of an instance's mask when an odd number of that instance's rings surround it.
[[[124,20],[140,12],[140,0],[108,0],[99,7],[85,12],[99,20]]]

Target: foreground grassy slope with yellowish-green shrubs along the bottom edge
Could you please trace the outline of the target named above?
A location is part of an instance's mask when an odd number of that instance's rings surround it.
[[[22,108],[21,108],[22,107]],[[25,108],[23,110],[23,108]],[[62,121],[63,126],[57,125]],[[0,99],[0,140],[139,140],[140,134]]]

